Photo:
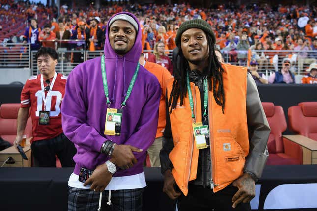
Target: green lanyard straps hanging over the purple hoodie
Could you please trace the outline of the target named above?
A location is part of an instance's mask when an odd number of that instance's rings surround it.
[[[126,93],[125,99],[121,103],[121,110],[123,109],[123,107],[125,107],[125,103],[128,100],[128,98],[130,97],[132,88],[133,88],[134,83],[135,83],[135,81],[137,79],[137,76],[138,76],[139,68],[140,68],[140,63],[138,62],[137,68],[134,71],[133,77],[132,77],[130,85],[128,87],[128,91]],[[108,83],[107,83],[107,76],[106,76],[106,67],[105,67],[105,55],[102,55],[102,57],[101,57],[101,72],[102,72],[102,81],[103,81],[103,85],[104,85],[104,91],[105,91],[105,95],[106,95],[106,98],[107,98],[107,103],[106,104],[108,105],[108,108],[110,108],[111,102],[109,101],[109,90],[108,90]]]

